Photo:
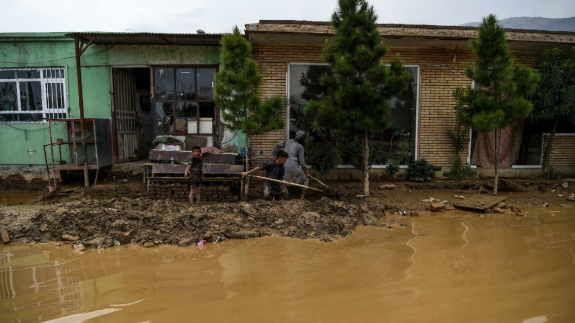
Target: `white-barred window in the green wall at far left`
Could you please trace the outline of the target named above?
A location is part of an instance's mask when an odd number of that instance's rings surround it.
[[[0,121],[67,118],[63,67],[0,68]]]

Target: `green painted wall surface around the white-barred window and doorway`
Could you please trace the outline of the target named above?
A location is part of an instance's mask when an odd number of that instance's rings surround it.
[[[111,66],[219,64],[219,60],[217,46],[93,45],[81,57],[85,117],[110,118]],[[68,113],[78,118],[74,40],[64,33],[0,33],[0,67],[51,66],[66,68]],[[44,164],[47,126],[0,123],[0,164]],[[66,130],[56,128],[53,139],[65,137]]]

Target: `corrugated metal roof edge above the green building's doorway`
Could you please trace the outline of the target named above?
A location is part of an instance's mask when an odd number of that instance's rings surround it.
[[[98,45],[220,45],[224,34],[183,34],[183,33],[113,33],[113,32],[76,32],[67,33],[68,37],[79,37]]]

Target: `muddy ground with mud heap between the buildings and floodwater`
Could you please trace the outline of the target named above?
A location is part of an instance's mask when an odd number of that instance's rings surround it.
[[[371,186],[372,196],[363,198],[361,183],[328,183],[339,195],[327,198],[311,195],[308,201],[297,199],[293,191],[289,201],[266,202],[260,198],[261,182],[253,182],[251,201],[190,206],[170,200],[150,200],[145,196],[141,179],[128,184],[109,181],[90,190],[63,187],[55,199],[36,203],[3,203],[0,206],[0,229],[5,228],[13,241],[25,243],[63,241],[68,234],[88,248],[110,247],[114,240],[122,245],[154,244],[190,245],[205,239],[245,239],[281,235],[300,239],[332,241],[351,234],[358,225],[402,229],[413,217],[427,214],[434,197],[455,202],[453,195],[477,194],[479,182],[394,183],[396,189],[380,190]],[[575,214],[575,202],[566,200],[575,193],[575,181],[564,189],[565,181],[520,181],[526,192],[501,192],[508,207],[521,205],[526,213],[551,208]],[[389,183],[386,183],[389,184]],[[14,192],[11,192],[14,196]],[[1,193],[0,193],[1,195]],[[559,197],[558,195],[563,195]],[[21,205],[17,205],[20,203]],[[16,206],[6,206],[6,205]],[[402,215],[400,211],[407,211]],[[433,213],[440,214],[440,213]],[[480,213],[478,213],[479,215]],[[502,216],[513,216],[507,212]],[[63,242],[62,242],[63,243]]]

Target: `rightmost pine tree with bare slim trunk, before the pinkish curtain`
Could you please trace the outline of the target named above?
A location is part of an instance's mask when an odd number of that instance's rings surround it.
[[[501,129],[527,118],[532,109],[527,97],[535,91],[539,76],[527,67],[513,64],[505,30],[493,14],[483,18],[477,39],[471,40],[471,50],[476,60],[466,74],[481,84],[481,89],[467,87],[454,92],[461,107],[457,118],[477,132],[495,132],[493,195],[497,195]]]

